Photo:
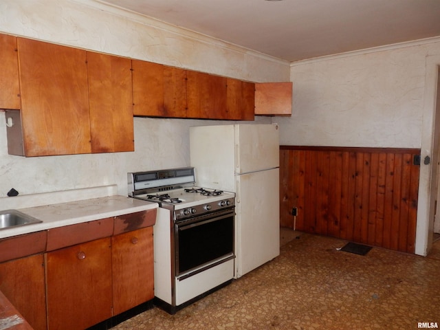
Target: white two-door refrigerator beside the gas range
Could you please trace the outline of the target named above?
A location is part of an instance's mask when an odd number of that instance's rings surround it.
[[[197,186],[236,193],[235,278],[280,254],[278,124],[190,127]]]

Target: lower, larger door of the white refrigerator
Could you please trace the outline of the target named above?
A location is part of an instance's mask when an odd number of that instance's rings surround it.
[[[279,170],[236,176],[236,277],[280,254]]]

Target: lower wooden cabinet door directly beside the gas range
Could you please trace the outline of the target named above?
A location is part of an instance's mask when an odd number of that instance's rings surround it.
[[[153,227],[111,238],[113,315],[154,297]]]

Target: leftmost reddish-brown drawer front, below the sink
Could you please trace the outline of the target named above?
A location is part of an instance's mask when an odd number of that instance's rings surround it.
[[[47,232],[32,232],[0,240],[0,263],[44,252]]]

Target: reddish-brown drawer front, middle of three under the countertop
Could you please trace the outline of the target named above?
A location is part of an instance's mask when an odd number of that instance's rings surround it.
[[[47,251],[109,237],[113,233],[113,218],[66,225],[47,230]]]

